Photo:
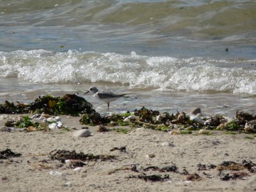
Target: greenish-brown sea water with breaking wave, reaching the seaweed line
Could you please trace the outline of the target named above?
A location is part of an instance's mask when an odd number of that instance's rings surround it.
[[[0,1],[0,102],[99,90],[115,112],[255,113],[255,1]]]

